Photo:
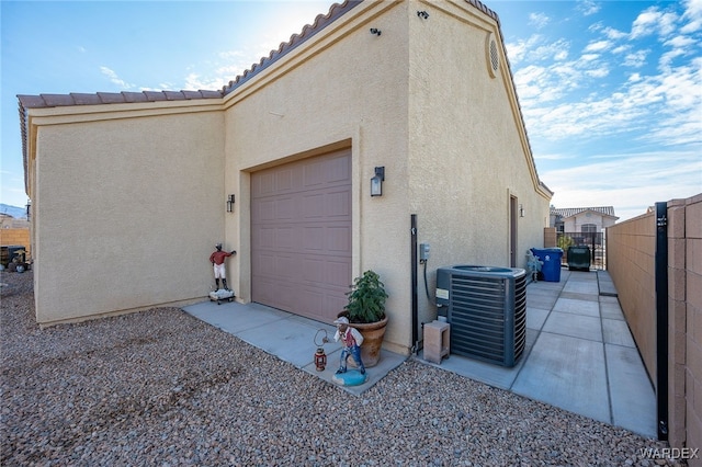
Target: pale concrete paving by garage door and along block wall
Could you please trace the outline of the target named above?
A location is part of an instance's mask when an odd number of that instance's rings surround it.
[[[330,324],[258,304],[212,301],[184,310],[241,340],[331,384],[339,345],[326,344],[328,364],[317,372],[314,352]],[[383,351],[361,386],[342,387],[360,395],[407,357]],[[526,349],[512,368],[451,355],[440,365],[490,386],[656,437],[656,398],[619,306],[616,291],[603,271],[561,272],[561,282],[526,287]]]

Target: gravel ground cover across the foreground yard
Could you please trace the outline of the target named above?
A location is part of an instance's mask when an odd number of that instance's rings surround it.
[[[678,465],[411,358],[351,396],[178,308],[39,329],[32,273],[0,283],[2,466]]]

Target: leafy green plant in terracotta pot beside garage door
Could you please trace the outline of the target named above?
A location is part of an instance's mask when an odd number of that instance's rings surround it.
[[[376,272],[369,270],[353,280],[347,296],[349,303],[339,316],[349,318],[350,326],[363,335],[363,345],[361,345],[363,364],[366,367],[375,366],[381,358],[381,348],[387,327],[385,285]]]

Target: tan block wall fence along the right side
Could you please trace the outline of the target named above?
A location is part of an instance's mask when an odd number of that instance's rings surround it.
[[[654,385],[656,223],[650,212],[607,229],[608,270]],[[667,240],[668,441],[702,448],[702,194],[667,203]]]

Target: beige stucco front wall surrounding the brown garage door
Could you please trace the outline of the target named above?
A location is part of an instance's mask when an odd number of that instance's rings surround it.
[[[360,18],[327,35],[309,59],[280,64],[265,86],[235,91],[227,110],[226,191],[248,204],[248,172],[325,147],[351,146],[353,275],[373,269],[385,281],[389,345],[409,346],[409,210],[407,171],[407,4],[361,5]],[[378,14],[371,19],[374,14]],[[377,27],[382,35],[372,35]],[[331,29],[333,30],[333,29]],[[341,39],[341,41],[340,41]],[[280,71],[279,71],[280,70]],[[257,83],[258,84],[258,83]],[[241,95],[246,95],[241,99]],[[315,151],[316,150],[316,151]],[[383,196],[371,198],[373,169],[384,166]],[[241,207],[241,206],[240,206]],[[233,242],[248,244],[248,207],[227,217]],[[242,251],[249,250],[248,247]],[[237,277],[249,299],[250,261]]]

